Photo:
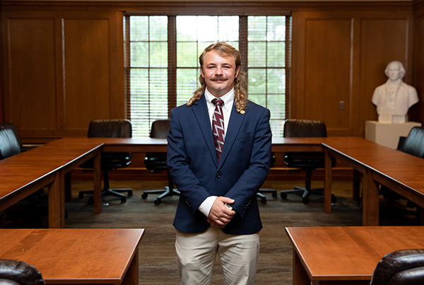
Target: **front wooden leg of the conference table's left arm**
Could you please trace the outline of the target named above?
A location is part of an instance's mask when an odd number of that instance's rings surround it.
[[[55,174],[54,181],[49,185],[49,228],[64,228],[65,219],[64,214],[61,215],[61,211],[64,211],[64,199],[62,201],[61,192],[61,170]],[[63,207],[61,207],[63,202]]]

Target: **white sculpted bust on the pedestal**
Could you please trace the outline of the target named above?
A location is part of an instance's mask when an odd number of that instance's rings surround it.
[[[375,88],[371,100],[377,105],[378,122],[408,122],[408,109],[418,103],[418,94],[416,88],[402,81],[405,72],[401,62],[387,64],[384,74],[389,79]]]

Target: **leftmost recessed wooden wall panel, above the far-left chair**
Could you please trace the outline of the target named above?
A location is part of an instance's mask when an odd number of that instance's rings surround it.
[[[54,18],[8,18],[6,121],[20,130],[57,128]]]

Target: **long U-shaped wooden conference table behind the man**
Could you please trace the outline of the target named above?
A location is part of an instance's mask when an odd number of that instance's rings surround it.
[[[165,152],[166,139],[63,138],[0,161],[0,211],[49,187],[49,227],[64,228],[65,175],[94,159],[94,213],[102,211],[102,152]],[[273,138],[272,151],[324,151],[324,211],[331,212],[331,159],[363,177],[363,226],[379,223],[379,183],[424,207],[424,160],[360,137]],[[3,182],[4,181],[4,182]],[[50,205],[52,205],[50,207]]]

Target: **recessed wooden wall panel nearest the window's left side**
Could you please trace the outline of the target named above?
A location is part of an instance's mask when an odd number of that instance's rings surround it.
[[[110,117],[107,19],[64,19],[65,125]]]

